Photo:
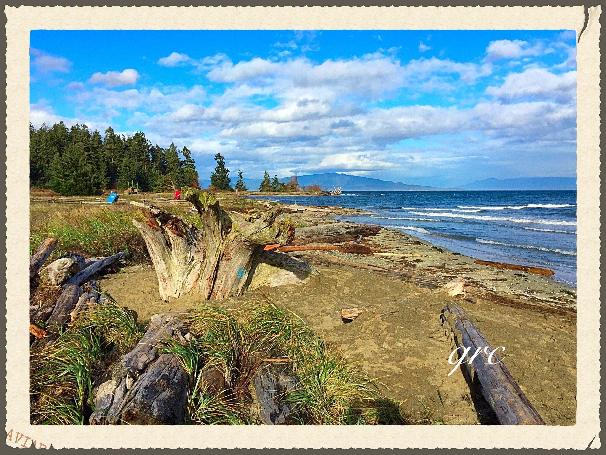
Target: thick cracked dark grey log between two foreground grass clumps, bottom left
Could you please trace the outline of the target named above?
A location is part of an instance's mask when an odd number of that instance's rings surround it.
[[[158,352],[166,337],[184,341],[178,313],[156,314],[132,351],[93,390],[91,425],[182,425],[189,377],[179,359]]]

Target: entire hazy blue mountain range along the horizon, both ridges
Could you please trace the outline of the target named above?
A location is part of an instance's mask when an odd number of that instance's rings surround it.
[[[291,177],[279,179],[287,183]],[[520,177],[520,178],[486,178],[477,180],[456,188],[439,188],[435,186],[408,185],[401,182],[380,180],[378,178],[361,177],[359,175],[327,174],[299,175],[299,185],[319,185],[324,190],[333,186],[341,187],[344,191],[444,191],[444,190],[576,190],[575,177]],[[245,178],[244,183],[252,191],[259,189],[261,178]],[[231,182],[235,183],[235,180]]]

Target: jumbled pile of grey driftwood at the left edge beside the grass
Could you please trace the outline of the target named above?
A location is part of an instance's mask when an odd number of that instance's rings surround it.
[[[61,295],[56,302],[30,306],[32,346],[41,344],[41,340],[51,342],[61,328],[75,320],[88,303],[99,302],[102,297],[96,281],[91,278],[126,257],[124,251],[105,258],[84,258],[80,254],[68,253],[41,270],[56,246],[55,238],[45,239],[30,261],[30,280],[38,276],[49,285],[61,286]]]

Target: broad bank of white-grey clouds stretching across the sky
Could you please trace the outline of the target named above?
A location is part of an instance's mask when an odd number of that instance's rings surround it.
[[[518,55],[515,61],[522,62],[539,52],[539,45],[494,41],[479,62],[401,61],[397,49],[320,61],[276,58],[304,44],[296,39],[276,43],[272,58],[232,61],[223,53],[192,58],[173,52],[158,60],[218,83],[209,93],[200,85],[119,89],[128,78],[109,72],[95,73],[89,81],[104,86],[68,84],[68,97],[80,106],[75,117],[85,112],[87,121],[101,124],[122,113],[131,129],[144,130],[154,143],[175,141],[201,157],[220,152],[230,169],[245,163],[247,177],[262,175],[265,168],[279,175],[432,175],[431,169],[503,160],[504,153],[574,152],[574,71],[529,67],[490,79],[493,86],[484,93],[473,88],[493,76],[494,60]],[[136,73],[130,84],[138,79]],[[413,101],[436,97],[442,101],[433,106]],[[44,104],[32,106],[35,122],[59,118]]]

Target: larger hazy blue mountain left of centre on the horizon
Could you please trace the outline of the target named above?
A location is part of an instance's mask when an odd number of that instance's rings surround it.
[[[280,178],[287,183],[291,177]],[[322,189],[333,189],[333,186],[341,187],[344,191],[406,191],[406,190],[444,190],[434,186],[407,185],[401,182],[379,180],[378,178],[360,177],[359,175],[338,174],[329,172],[327,174],[299,175],[299,185],[319,185]],[[245,178],[244,183],[250,190],[258,190],[262,178]],[[233,183],[233,182],[232,182]]]

